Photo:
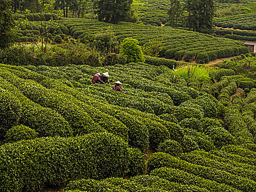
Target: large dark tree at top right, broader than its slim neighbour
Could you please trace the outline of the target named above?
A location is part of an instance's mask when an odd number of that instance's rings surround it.
[[[212,30],[215,12],[214,0],[187,0],[187,27],[196,31]]]

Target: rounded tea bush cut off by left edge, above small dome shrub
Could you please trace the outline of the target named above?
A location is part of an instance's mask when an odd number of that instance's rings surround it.
[[[6,131],[18,125],[21,117],[21,105],[14,95],[0,88],[0,138]]]

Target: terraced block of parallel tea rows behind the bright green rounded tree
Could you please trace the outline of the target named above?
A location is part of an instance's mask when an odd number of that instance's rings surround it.
[[[70,35],[76,34],[81,41],[92,41],[94,35],[109,29],[109,26],[120,42],[126,37],[132,37],[143,45],[158,37],[162,41],[160,57],[176,60],[184,58],[186,58],[185,61],[196,60],[198,55],[197,61],[205,63],[209,60],[248,53],[248,48],[244,47],[241,42],[171,27],[129,23],[113,25],[86,19],[63,19],[61,22],[69,28]]]

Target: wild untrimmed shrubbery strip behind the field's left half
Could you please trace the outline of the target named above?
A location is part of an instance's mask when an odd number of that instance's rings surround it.
[[[0,53],[0,61],[17,66],[102,65],[99,61],[99,54],[88,50],[82,44],[56,44],[49,48],[45,54],[38,53],[35,47],[14,46]]]

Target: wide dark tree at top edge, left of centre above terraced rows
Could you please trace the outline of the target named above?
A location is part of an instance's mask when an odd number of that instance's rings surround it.
[[[96,0],[94,7],[99,21],[117,24],[132,15],[132,0]]]

